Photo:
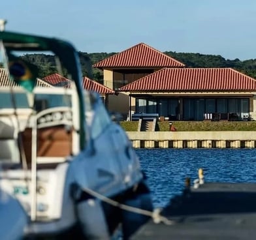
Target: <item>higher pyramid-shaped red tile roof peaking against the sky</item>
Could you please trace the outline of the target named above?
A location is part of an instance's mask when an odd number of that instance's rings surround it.
[[[184,67],[183,63],[159,52],[143,42],[127,50],[107,57],[96,63],[97,68],[120,68],[120,67]]]

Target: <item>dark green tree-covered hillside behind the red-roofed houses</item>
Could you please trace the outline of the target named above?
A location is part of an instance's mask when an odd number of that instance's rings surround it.
[[[225,59],[221,55],[207,55],[200,53],[176,53],[176,52],[164,52],[165,54],[181,61],[186,67],[230,67],[234,68],[252,78],[256,78],[256,59],[248,59],[240,61],[240,59]],[[82,65],[82,73],[84,76],[102,82],[103,71],[98,68],[93,68],[93,64],[110,57],[115,53],[84,53],[79,52],[80,61]],[[53,55],[44,54],[31,54],[22,56],[27,61],[35,63],[40,70],[40,78],[44,78],[54,72],[56,72],[56,66],[54,65]],[[65,72],[63,73],[65,75]]]

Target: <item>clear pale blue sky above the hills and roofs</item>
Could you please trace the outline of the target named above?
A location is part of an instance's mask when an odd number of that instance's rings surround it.
[[[87,53],[140,42],[161,52],[256,59],[256,0],[1,1],[7,31],[69,40]]]

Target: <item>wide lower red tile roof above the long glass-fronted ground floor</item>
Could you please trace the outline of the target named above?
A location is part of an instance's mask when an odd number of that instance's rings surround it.
[[[232,68],[163,68],[120,91],[255,91],[256,80]]]

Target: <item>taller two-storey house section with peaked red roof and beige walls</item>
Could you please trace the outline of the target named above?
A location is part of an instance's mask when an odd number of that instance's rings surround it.
[[[135,106],[129,104],[129,93],[121,92],[121,87],[161,68],[184,68],[185,65],[147,44],[140,43],[103,59],[93,67],[103,70],[103,84],[119,93],[109,97],[108,110],[125,116],[129,112],[135,112]]]

